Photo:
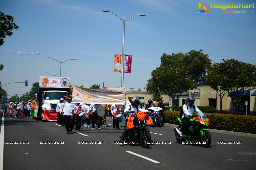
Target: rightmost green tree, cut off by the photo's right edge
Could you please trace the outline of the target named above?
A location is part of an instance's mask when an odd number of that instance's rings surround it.
[[[240,99],[244,90],[256,88],[256,67],[252,64],[246,64],[242,61],[229,59],[223,60],[222,69],[225,82],[222,86],[228,92],[233,103],[235,103],[235,114],[238,114]]]

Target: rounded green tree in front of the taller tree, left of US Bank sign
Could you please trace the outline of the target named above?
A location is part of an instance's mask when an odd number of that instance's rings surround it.
[[[180,95],[187,89],[196,88],[195,81],[191,81],[191,75],[187,75],[188,67],[183,63],[174,65],[163,65],[156,70],[153,70],[152,82],[160,91],[169,94],[175,103],[175,110],[177,110],[178,99]]]

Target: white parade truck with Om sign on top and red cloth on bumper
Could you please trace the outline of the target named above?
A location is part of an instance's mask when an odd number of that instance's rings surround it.
[[[56,107],[61,98],[69,95],[69,85],[69,77],[40,76],[38,110],[34,117],[42,121],[57,121]]]

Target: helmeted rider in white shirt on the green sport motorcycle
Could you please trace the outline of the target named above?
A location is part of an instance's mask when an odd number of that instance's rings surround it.
[[[192,115],[194,112],[200,113],[202,112],[201,110],[194,105],[195,103],[195,97],[194,96],[188,96],[187,97],[187,103],[183,104],[182,110],[183,110],[183,115],[182,115],[182,137],[186,137],[188,134],[188,128],[189,128],[189,121],[188,118],[192,118]]]

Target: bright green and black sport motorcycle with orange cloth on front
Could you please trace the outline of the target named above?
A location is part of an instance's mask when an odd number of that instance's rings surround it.
[[[209,117],[214,116],[211,114]],[[207,148],[211,145],[211,134],[208,130],[210,120],[204,113],[197,113],[192,115],[193,118],[189,119],[189,130],[186,137],[182,137],[182,120],[178,116],[175,124],[178,127],[174,127],[175,137],[179,143],[184,143],[186,140],[193,141],[192,143],[199,143],[202,147]]]

